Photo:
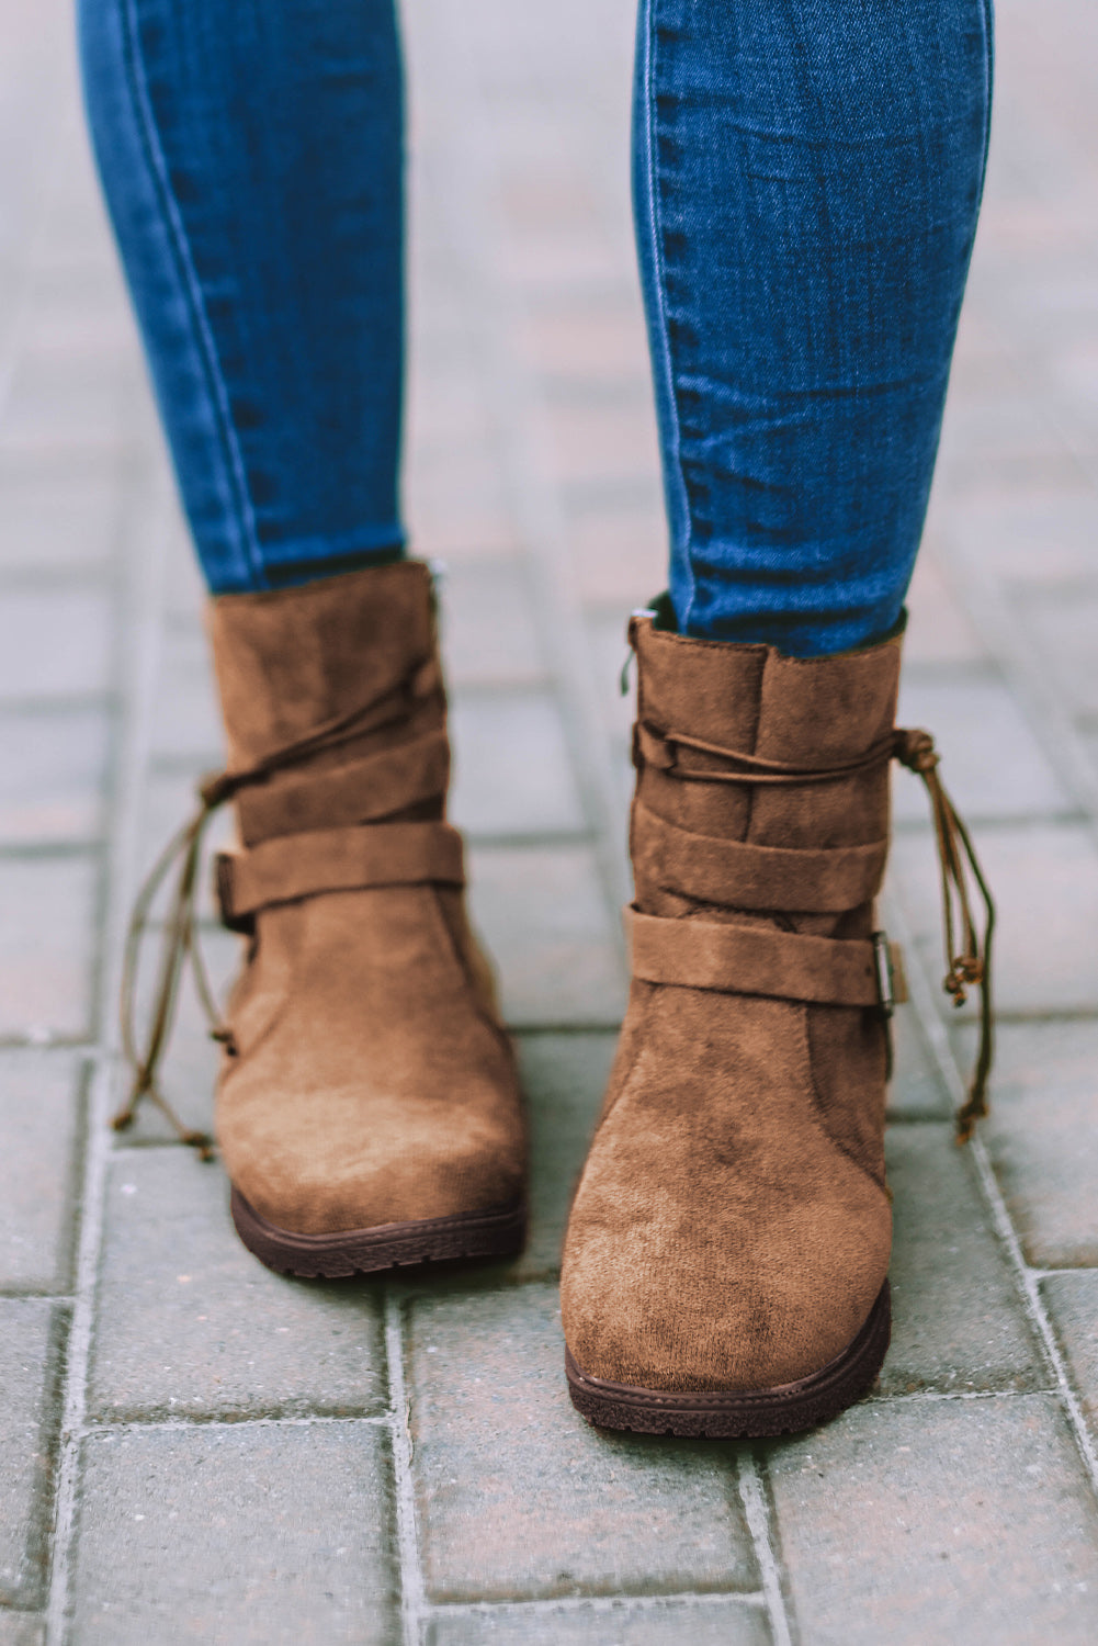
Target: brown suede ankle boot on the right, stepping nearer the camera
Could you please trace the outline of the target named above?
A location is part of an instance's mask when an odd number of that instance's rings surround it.
[[[899,637],[797,660],[657,616],[630,624],[632,988],[565,1244],[568,1383],[606,1427],[767,1435],[854,1401],[889,1343],[894,756],[935,800],[961,997],[971,849],[933,744],[894,732]]]

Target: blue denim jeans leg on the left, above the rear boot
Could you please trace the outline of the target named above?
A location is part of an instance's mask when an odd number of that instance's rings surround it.
[[[81,0],[95,155],[211,588],[400,551],[392,0]]]

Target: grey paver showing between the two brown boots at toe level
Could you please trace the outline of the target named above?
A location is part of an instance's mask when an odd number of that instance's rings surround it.
[[[530,1239],[512,1267],[537,1276],[560,1264],[568,1208],[606,1090],[617,1035],[530,1034],[519,1067],[530,1103]]]

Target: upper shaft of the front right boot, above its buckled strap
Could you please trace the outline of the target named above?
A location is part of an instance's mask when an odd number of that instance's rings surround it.
[[[716,918],[774,912],[815,935],[833,935],[840,925],[849,935],[868,928],[889,835],[899,635],[803,660],[765,645],[686,639],[635,616],[630,642],[639,678],[637,907],[665,915],[705,909]],[[680,849],[670,849],[665,825],[686,831],[693,844],[675,833]],[[721,853],[733,843],[774,853],[764,864],[772,902],[737,904],[736,882],[721,886],[719,861],[739,861]],[[851,859],[849,848],[864,848],[861,859]],[[835,895],[805,902],[803,884],[798,889],[805,859],[792,854],[830,851],[853,863],[840,876],[851,886],[849,902]],[[790,853],[787,879],[782,853]],[[693,863],[703,872],[691,876]],[[818,871],[830,872],[823,856]]]

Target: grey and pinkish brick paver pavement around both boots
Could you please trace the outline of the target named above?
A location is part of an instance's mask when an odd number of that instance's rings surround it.
[[[948,1109],[897,782],[897,1330],[765,1447],[573,1414],[555,1274],[622,1007],[622,616],[662,581],[630,0],[408,0],[408,500],[449,565],[456,811],[533,1106],[512,1266],[305,1286],[221,1167],[114,1137],[120,932],[219,760],[201,594],[81,132],[66,0],[0,0],[0,1646],[1098,1639],[1098,21],[999,0],[988,202],[904,716],[1001,900],[994,1114]],[[910,792],[909,792],[910,790]],[[234,940],[209,933],[227,974]],[[168,1085],[209,1118],[184,1007]]]

